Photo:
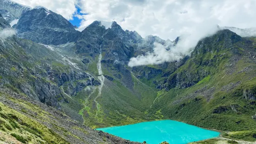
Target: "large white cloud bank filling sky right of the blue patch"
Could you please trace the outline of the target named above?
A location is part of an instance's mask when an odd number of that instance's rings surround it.
[[[81,28],[94,20],[117,21],[143,37],[175,39],[191,27],[210,20],[239,28],[256,24],[256,0],[80,0]]]

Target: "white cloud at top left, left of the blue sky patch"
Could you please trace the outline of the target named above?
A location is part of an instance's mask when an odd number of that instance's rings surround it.
[[[72,20],[77,11],[75,5],[77,0],[13,0],[29,7],[43,6],[47,9],[61,14],[67,20]]]

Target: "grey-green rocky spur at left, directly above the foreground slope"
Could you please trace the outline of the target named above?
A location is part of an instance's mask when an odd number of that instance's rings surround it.
[[[2,18],[0,20],[1,26],[10,28]],[[63,98],[66,101],[66,96],[60,89],[66,82],[71,83],[66,90],[70,94],[86,85],[98,85],[96,81],[93,82],[94,79],[89,80],[92,77],[90,74],[76,71],[72,62],[63,55],[16,36],[0,41],[0,56],[1,84],[59,109],[57,99]],[[83,79],[85,81],[77,82]]]

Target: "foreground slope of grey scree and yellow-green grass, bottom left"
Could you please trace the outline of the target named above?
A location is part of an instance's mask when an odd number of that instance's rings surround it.
[[[53,107],[3,86],[0,86],[0,107],[3,144],[139,144],[92,130]]]

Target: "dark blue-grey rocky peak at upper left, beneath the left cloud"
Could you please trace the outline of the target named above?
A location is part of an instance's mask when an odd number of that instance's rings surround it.
[[[20,38],[46,45],[73,42],[80,33],[64,17],[44,7],[26,11],[14,27]]]

